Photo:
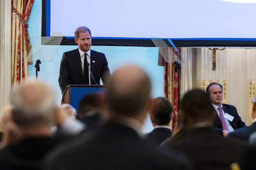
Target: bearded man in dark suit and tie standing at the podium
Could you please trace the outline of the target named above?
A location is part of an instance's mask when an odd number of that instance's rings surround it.
[[[59,85],[63,94],[67,85],[105,85],[110,76],[105,54],[91,50],[91,30],[80,26],[75,31],[78,48],[63,53],[60,63]]]

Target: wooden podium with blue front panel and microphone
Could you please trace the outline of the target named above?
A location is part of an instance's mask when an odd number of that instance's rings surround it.
[[[72,105],[76,110],[85,94],[104,91],[106,85],[67,85],[62,95],[61,104]]]

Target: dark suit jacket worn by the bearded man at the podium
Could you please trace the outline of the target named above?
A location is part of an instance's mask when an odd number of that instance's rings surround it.
[[[95,62],[92,62],[95,61]],[[105,54],[91,50],[91,71],[97,84],[100,84],[100,78],[103,84],[106,84],[110,76],[108,61]],[[87,67],[87,66],[86,66]],[[60,63],[59,85],[63,93],[67,85],[84,85],[83,71],[80,53],[77,49],[63,53]],[[92,76],[91,84],[95,85]]]

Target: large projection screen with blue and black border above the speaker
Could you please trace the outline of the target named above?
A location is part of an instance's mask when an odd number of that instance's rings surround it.
[[[256,47],[256,4],[221,0],[43,0],[42,36],[87,26],[92,45],[153,47],[152,37],[177,47]]]

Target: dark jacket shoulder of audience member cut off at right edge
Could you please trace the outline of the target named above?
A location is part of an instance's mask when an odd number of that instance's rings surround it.
[[[256,132],[256,122],[252,123],[251,126],[237,129],[234,132],[228,134],[228,138],[242,140],[244,142],[249,142],[249,136],[251,133]]]

